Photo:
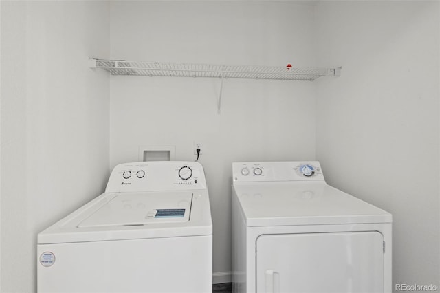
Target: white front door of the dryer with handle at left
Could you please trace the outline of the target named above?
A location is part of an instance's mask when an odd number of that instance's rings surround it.
[[[261,235],[256,292],[384,292],[380,232]]]

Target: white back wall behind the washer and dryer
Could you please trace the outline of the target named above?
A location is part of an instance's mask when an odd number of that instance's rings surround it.
[[[292,2],[114,1],[111,56],[134,61],[314,65],[313,6]],[[232,162],[313,160],[313,83],[203,78],[110,78],[111,165],[138,160],[138,146],[176,146],[195,160],[204,146],[214,225],[214,282],[231,270]]]

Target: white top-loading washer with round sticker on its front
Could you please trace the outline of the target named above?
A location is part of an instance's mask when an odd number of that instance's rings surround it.
[[[105,193],[39,233],[37,276],[38,292],[211,292],[201,164],[115,166]]]

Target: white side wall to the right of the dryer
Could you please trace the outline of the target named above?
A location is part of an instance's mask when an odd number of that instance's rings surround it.
[[[438,1],[321,1],[316,158],[330,184],[393,213],[393,283],[440,276]]]

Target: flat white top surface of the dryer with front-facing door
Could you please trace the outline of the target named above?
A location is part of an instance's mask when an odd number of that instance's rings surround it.
[[[234,183],[247,226],[391,223],[390,213],[325,182]]]

